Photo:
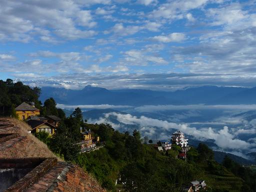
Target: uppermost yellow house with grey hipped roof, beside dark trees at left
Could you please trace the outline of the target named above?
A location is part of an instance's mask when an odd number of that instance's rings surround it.
[[[30,105],[25,102],[18,105],[15,110],[19,120],[25,120],[31,115],[40,115],[40,110],[38,108],[35,108],[34,105]]]

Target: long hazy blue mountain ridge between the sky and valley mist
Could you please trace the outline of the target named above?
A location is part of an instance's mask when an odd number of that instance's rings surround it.
[[[53,97],[62,104],[239,104],[256,103],[256,88],[200,86],[176,91],[153,91],[144,89],[108,90],[91,85],[80,90],[41,87],[40,99]]]

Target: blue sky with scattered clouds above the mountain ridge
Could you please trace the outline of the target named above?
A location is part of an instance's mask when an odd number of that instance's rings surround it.
[[[255,0],[0,0],[0,77],[32,86],[256,86]]]

